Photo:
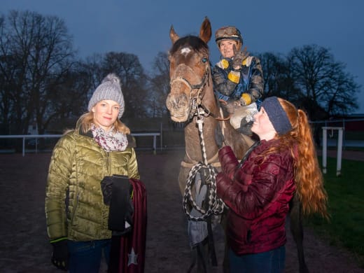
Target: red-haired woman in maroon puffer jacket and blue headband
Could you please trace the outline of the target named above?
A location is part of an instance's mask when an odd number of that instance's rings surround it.
[[[288,203],[297,192],[305,213],[328,217],[327,195],[304,111],[269,97],[251,130],[260,141],[241,164],[230,146],[219,151],[217,194],[230,208],[230,271],[283,272]]]

